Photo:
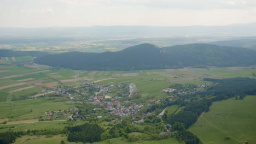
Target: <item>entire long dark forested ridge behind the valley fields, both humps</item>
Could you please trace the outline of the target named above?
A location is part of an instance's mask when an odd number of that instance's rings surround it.
[[[141,70],[255,65],[256,51],[238,47],[190,44],[162,47],[140,44],[118,52],[66,52],[34,59],[36,63],[77,70]]]

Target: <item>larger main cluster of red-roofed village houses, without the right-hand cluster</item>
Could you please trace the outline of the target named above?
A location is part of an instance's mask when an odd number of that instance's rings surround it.
[[[105,117],[119,117],[114,121],[121,121],[123,117],[137,115],[143,107],[142,104],[131,101],[134,95],[138,95],[134,83],[126,82],[104,86],[86,82],[79,86],[54,89],[53,91],[62,97],[69,98],[70,100],[66,101],[66,104],[79,104],[85,107],[86,105],[95,105],[92,107],[97,108],[82,111],[78,111],[77,107],[71,107],[69,110],[51,110],[45,112],[48,117],[70,117],[69,120],[79,121],[83,118],[102,118],[100,113],[104,113]]]

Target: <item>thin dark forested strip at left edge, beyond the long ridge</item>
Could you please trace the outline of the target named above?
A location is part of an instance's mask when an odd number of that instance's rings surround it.
[[[44,55],[48,55],[48,53],[40,52],[40,51],[0,50],[0,57],[23,57],[23,56],[40,57]]]

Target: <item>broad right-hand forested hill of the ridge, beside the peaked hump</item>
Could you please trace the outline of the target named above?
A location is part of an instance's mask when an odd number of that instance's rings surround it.
[[[172,57],[171,61],[180,62],[186,67],[195,65],[235,67],[256,63],[256,51],[241,47],[188,44],[162,47],[161,50],[168,57]]]

